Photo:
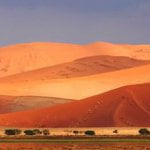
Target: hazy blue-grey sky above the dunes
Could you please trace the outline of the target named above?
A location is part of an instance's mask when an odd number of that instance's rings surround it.
[[[150,0],[0,0],[0,45],[150,43]]]

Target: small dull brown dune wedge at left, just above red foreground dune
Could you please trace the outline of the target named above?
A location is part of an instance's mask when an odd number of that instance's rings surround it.
[[[0,96],[0,114],[73,102],[70,99],[37,96]]]

